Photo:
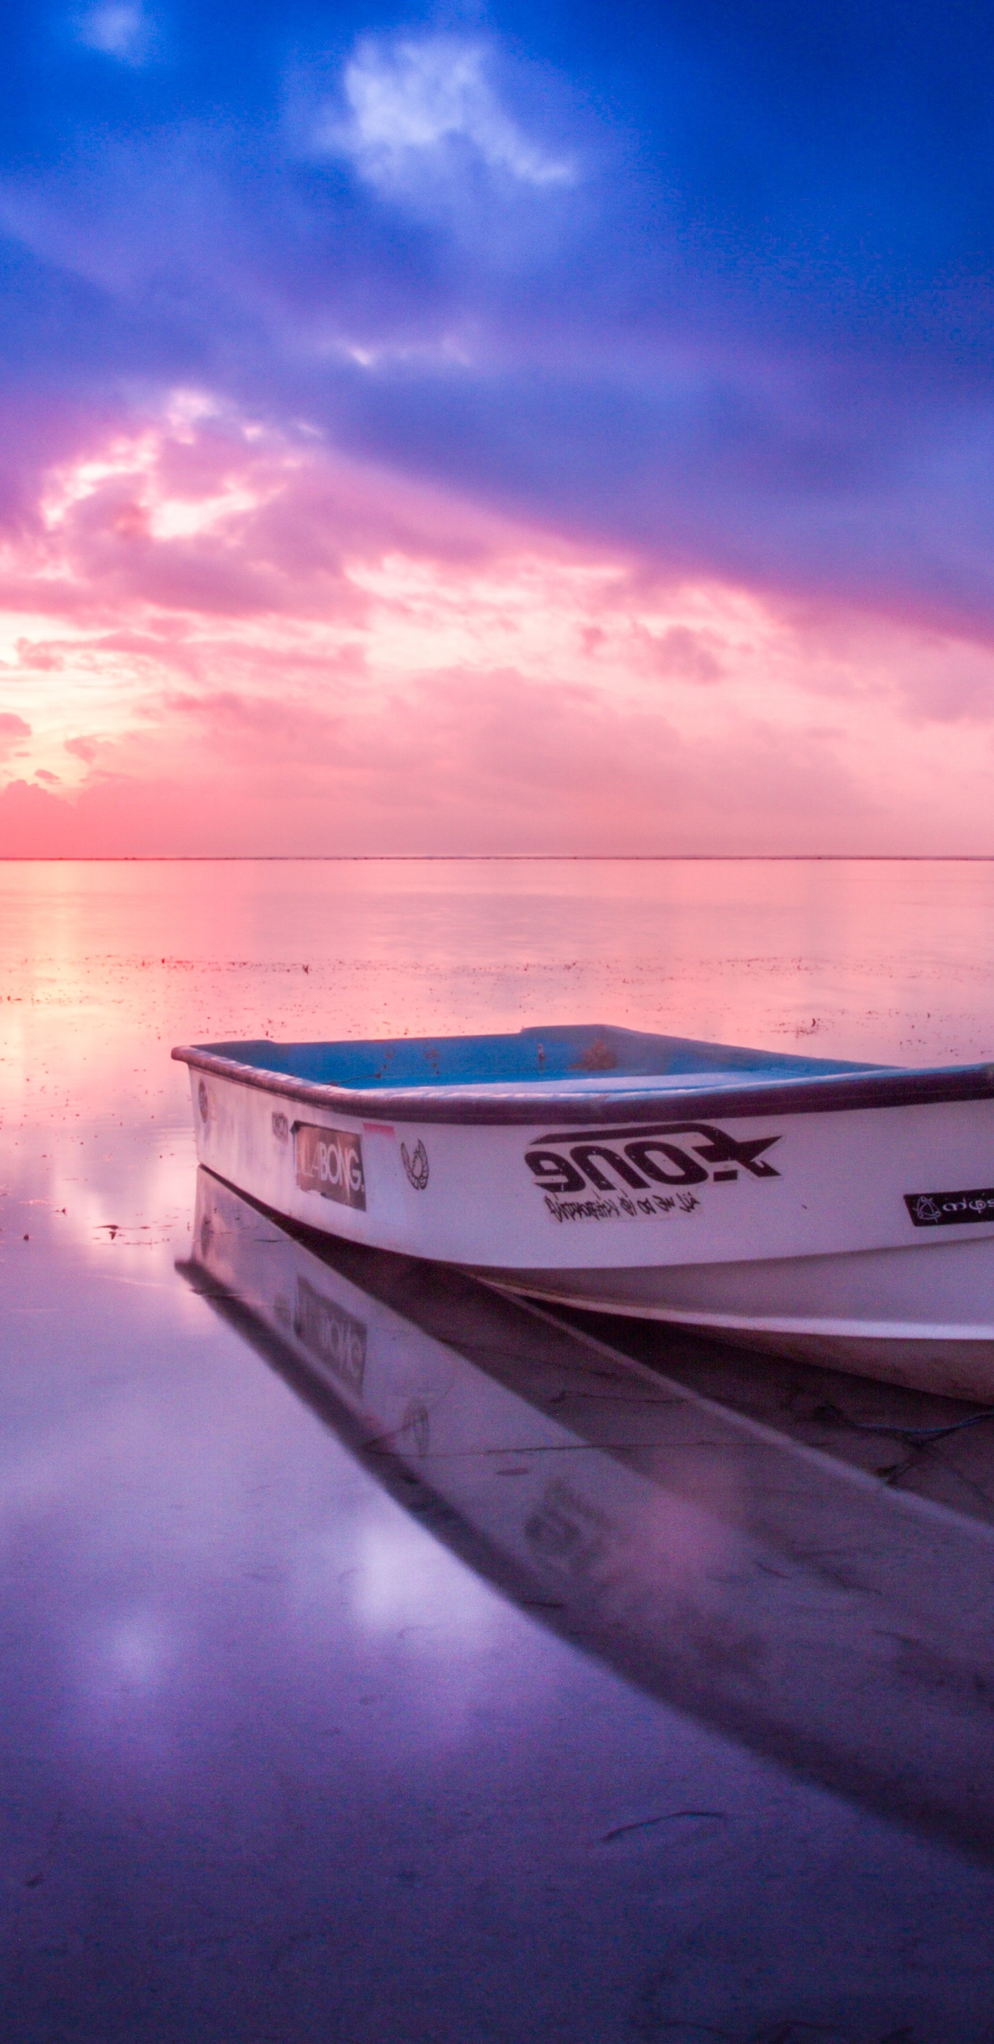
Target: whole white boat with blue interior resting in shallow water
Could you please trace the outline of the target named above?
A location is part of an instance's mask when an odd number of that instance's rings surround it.
[[[994,1065],[591,1024],[172,1055],[198,1161],[290,1220],[994,1400]]]

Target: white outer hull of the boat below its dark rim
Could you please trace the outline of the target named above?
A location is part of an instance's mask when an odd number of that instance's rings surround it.
[[[190,1081],[198,1161],[321,1233],[994,1400],[992,1098],[779,1114],[661,1098],[571,1128],[548,1102],[532,1124],[519,1106],[442,1120],[438,1102],[419,1120],[397,1098],[372,1120],[319,1087],[202,1065]]]

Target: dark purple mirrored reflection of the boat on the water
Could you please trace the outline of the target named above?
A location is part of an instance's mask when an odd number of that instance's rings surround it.
[[[182,1269],[542,1623],[808,1780],[994,1856],[982,1519],[452,1271],[295,1235],[209,1171]]]

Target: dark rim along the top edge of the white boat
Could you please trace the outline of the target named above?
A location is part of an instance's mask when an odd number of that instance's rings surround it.
[[[507,1091],[499,1100],[464,1087],[464,1098],[454,1098],[446,1087],[442,1094],[432,1085],[405,1087],[350,1087],[327,1085],[319,1079],[299,1079],[284,1071],[266,1071],[262,1065],[243,1065],[235,1057],[223,1057],[207,1044],[176,1044],[172,1057],[194,1071],[231,1079],[282,1100],[297,1100],[301,1106],[323,1108],[327,1114],[346,1114],[350,1120],[370,1122],[452,1122],[460,1126],[528,1126],[540,1122],[550,1128],[603,1126],[605,1122],[644,1122],[661,1114],[667,1120],[689,1114],[718,1116],[718,1120],[742,1120],[767,1114],[847,1114],[867,1108],[914,1108],[945,1106],[957,1100],[992,1100],[994,1065],[935,1065],[908,1067],[906,1071],[869,1067],[863,1073],[841,1071],[822,1077],[763,1079],[744,1085],[691,1085],[652,1087],[640,1094],[542,1094]]]

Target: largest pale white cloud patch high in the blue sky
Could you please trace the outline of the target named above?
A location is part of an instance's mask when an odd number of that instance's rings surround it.
[[[487,78],[483,43],[456,37],[364,41],[346,65],[346,119],[325,119],[319,143],[348,155],[382,192],[458,174],[466,157],[509,188],[575,182],[575,166],[532,141]]]

